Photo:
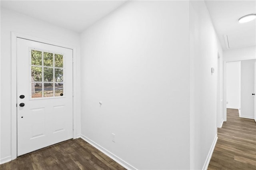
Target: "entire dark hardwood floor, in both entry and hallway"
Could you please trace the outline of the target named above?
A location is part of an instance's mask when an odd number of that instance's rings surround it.
[[[81,138],[68,140],[0,165],[1,170],[125,170]],[[227,109],[208,170],[256,170],[256,123]]]

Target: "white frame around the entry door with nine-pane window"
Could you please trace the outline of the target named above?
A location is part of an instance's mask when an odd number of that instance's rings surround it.
[[[73,138],[77,138],[77,123],[76,116],[79,107],[77,103],[78,97],[76,95],[77,78],[75,73],[76,70],[76,48],[70,45],[65,45],[49,40],[44,40],[17,32],[11,32],[11,156],[12,160],[17,158],[17,38],[23,38],[26,40],[32,40],[35,42],[46,43],[50,45],[56,45],[73,50],[73,66],[72,66],[72,77],[73,77]]]

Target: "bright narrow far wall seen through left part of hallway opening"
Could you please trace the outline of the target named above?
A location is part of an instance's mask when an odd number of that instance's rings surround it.
[[[227,108],[241,108],[241,61],[228,62],[227,73]]]

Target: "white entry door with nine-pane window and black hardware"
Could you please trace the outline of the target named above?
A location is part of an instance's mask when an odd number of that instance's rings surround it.
[[[72,53],[17,38],[17,156],[73,137]]]

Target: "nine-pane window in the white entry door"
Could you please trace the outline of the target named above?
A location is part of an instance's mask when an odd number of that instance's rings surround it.
[[[64,96],[63,55],[31,49],[31,98]]]

